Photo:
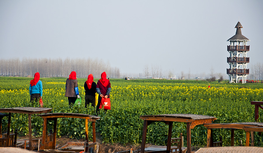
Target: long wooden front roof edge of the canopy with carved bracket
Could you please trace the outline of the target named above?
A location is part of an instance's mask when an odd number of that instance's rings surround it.
[[[173,121],[173,122],[185,122],[185,123],[191,123],[194,121],[194,119],[187,119],[187,118],[178,118],[178,117],[140,117],[142,120],[148,120],[148,121]]]

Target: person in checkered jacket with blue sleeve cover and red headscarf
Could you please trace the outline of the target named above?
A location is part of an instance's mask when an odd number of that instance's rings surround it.
[[[77,98],[80,98],[78,81],[76,76],[77,76],[76,72],[72,71],[69,75],[69,78],[66,80],[65,97],[68,97],[68,105],[70,106],[75,104]]]

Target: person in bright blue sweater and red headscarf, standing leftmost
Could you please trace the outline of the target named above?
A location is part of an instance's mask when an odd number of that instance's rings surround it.
[[[39,98],[42,98],[42,81],[39,80],[40,74],[37,72],[34,75],[34,79],[30,81],[29,93],[30,93],[30,102],[39,101]]]

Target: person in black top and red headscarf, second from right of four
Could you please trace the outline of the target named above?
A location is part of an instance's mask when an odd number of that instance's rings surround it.
[[[95,109],[96,83],[93,81],[93,75],[89,74],[88,80],[84,83],[85,89],[85,107],[91,103]]]

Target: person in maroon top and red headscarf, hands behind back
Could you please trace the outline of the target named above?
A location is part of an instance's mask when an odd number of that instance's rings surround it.
[[[104,98],[110,98],[110,80],[106,78],[106,72],[103,72],[101,74],[101,79],[98,80],[96,91],[99,94],[98,96],[98,104],[96,107],[96,114],[98,115],[98,110],[101,105],[101,99]],[[105,110],[106,111],[106,110]]]

